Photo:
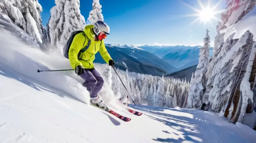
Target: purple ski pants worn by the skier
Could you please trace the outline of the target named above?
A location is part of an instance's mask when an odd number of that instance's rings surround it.
[[[84,73],[81,74],[81,77],[85,81],[83,86],[86,87],[90,92],[90,97],[96,97],[104,84],[104,80],[100,73],[96,69],[84,70]]]

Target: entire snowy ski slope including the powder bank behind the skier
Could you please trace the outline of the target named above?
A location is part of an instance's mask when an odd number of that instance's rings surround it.
[[[132,118],[123,122],[89,104],[88,91],[68,60],[47,55],[1,30],[0,142],[30,143],[253,143],[256,131],[230,124],[216,113],[129,105],[135,116],[116,102],[108,84],[100,95],[108,106]],[[104,69],[98,69],[104,70]]]

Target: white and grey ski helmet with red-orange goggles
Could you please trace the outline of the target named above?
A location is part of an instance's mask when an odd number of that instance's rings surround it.
[[[102,39],[105,39],[109,34],[110,29],[107,23],[103,21],[97,21],[93,24],[93,26],[94,26],[93,31],[100,41]],[[100,34],[101,32],[104,32],[104,34]]]

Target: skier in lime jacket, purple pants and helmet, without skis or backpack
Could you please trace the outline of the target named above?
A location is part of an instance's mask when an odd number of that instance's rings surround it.
[[[90,102],[104,110],[110,111],[100,95],[104,80],[100,73],[94,68],[95,54],[99,51],[105,62],[114,66],[115,62],[108,54],[103,39],[109,34],[109,26],[103,21],[97,21],[93,25],[87,25],[84,32],[75,35],[68,52],[71,67],[75,69],[78,76],[84,79],[83,86],[90,92]],[[79,54],[85,44],[86,50]]]

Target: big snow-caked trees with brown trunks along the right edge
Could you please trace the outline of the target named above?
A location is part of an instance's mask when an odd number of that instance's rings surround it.
[[[255,103],[255,17],[244,19],[255,5],[255,0],[227,1],[227,11],[216,27],[214,53],[206,73],[204,109],[224,111],[224,117],[231,123],[256,122],[246,119],[253,114]]]

